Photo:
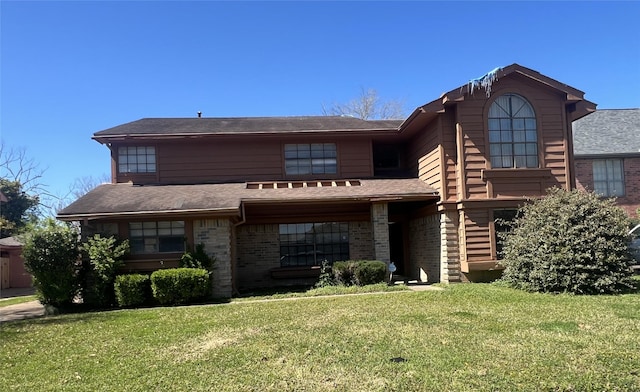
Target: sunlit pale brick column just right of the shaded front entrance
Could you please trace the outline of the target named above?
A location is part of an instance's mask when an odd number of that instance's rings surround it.
[[[460,282],[458,211],[445,211],[440,214],[440,241],[440,281]]]

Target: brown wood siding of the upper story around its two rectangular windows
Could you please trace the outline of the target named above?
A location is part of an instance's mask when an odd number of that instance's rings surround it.
[[[318,176],[287,176],[283,146],[287,143],[336,143],[338,172]],[[121,144],[125,145],[125,144]],[[139,184],[195,184],[234,181],[273,181],[304,178],[368,178],[373,176],[370,138],[318,137],[192,139],[156,142],[157,173],[117,173],[116,182]],[[117,151],[114,149],[114,151]],[[115,158],[115,157],[114,157]],[[115,161],[115,159],[114,159]]]

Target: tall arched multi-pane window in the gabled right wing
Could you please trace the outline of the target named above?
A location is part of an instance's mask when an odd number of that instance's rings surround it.
[[[491,167],[538,167],[538,132],[531,104],[516,94],[498,97],[489,108]]]

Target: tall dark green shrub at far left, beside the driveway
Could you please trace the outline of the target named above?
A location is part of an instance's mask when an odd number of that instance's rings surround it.
[[[80,288],[77,230],[47,220],[26,237],[22,255],[42,304],[67,307],[73,303]]]

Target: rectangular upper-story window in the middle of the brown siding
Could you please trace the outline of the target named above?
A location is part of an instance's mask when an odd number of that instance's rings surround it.
[[[335,143],[285,144],[284,167],[288,175],[336,174]]]

